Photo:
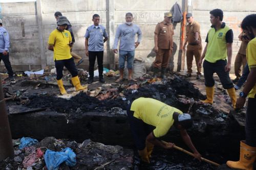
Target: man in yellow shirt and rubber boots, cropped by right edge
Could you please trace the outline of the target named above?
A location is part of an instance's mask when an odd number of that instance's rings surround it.
[[[236,103],[237,108],[243,108],[246,96],[248,96],[245,121],[246,139],[240,142],[240,160],[227,161],[227,165],[231,168],[253,169],[253,163],[256,160],[256,14],[246,16],[241,28],[251,39],[246,48],[246,60],[250,73]]]

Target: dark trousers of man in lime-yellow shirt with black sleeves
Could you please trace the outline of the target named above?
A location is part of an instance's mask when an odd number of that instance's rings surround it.
[[[220,78],[221,84],[224,89],[233,88],[234,85],[229,77],[229,72],[225,71],[227,60],[218,60],[216,63],[211,63],[204,60],[204,84],[207,87],[212,87],[215,84],[214,73],[216,72]]]

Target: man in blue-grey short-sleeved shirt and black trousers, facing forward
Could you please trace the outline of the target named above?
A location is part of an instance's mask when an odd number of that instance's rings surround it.
[[[104,42],[108,40],[108,33],[106,33],[105,27],[99,25],[100,16],[98,14],[93,15],[92,19],[94,25],[90,26],[86,30],[86,55],[89,56],[89,80],[88,84],[93,82],[94,77],[94,64],[97,57],[99,81],[104,83],[103,79],[103,52]],[[103,39],[104,37],[104,39]]]

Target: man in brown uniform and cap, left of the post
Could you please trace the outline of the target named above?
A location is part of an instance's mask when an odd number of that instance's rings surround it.
[[[154,78],[157,78],[161,66],[161,78],[165,78],[165,71],[168,67],[170,55],[173,51],[174,27],[170,21],[173,16],[170,12],[164,13],[164,20],[159,22],[155,30],[155,53],[156,59],[153,64]]]

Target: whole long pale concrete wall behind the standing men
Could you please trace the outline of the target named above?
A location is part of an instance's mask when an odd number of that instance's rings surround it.
[[[54,13],[60,11],[67,16],[72,23],[76,43],[73,52],[80,55],[85,61],[79,65],[80,68],[88,69],[88,57],[85,53],[83,37],[87,27],[93,24],[92,15],[100,15],[100,24],[106,27],[109,40],[104,44],[104,67],[118,69],[118,55],[113,53],[115,30],[118,25],[125,21],[125,13],[132,12],[134,23],[142,30],[142,40],[136,48],[135,57],[145,59],[147,69],[150,69],[155,60],[154,53],[154,30],[159,21],[163,20],[163,13],[170,11],[172,6],[178,2],[182,10],[188,8],[193,13],[194,19],[201,25],[202,39],[205,40],[207,31],[210,28],[209,11],[220,8],[224,11],[224,22],[233,29],[233,60],[238,52],[241,42],[238,35],[241,32],[239,24],[242,19],[255,11],[250,4],[253,0],[246,0],[243,3],[238,0],[231,1],[117,1],[117,0],[37,0],[27,3],[2,3],[3,26],[10,34],[10,61],[14,71],[37,70],[45,65],[53,66],[53,52],[48,50],[48,37],[56,28]],[[188,6],[185,4],[188,3]],[[177,23],[174,31],[174,52],[169,63],[169,68],[179,70],[182,65],[181,23]],[[203,47],[205,43],[203,42]],[[195,61],[194,61],[195,62]],[[186,63],[184,64],[186,70]],[[232,65],[233,66],[233,65]],[[194,63],[193,70],[196,70]],[[5,70],[3,62],[0,70]],[[233,69],[232,69],[233,70]]]

